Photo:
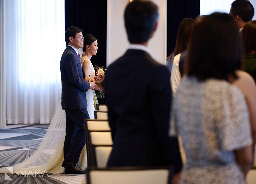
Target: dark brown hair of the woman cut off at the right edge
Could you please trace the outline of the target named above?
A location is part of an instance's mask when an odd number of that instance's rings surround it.
[[[256,52],[256,20],[249,21],[242,29],[244,54]]]

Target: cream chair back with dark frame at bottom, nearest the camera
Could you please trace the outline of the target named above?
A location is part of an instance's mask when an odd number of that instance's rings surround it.
[[[87,184],[167,184],[172,178],[173,167],[109,167],[88,168]]]

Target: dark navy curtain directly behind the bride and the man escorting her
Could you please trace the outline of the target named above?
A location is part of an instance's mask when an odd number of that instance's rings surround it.
[[[98,39],[99,50],[91,61],[93,66],[106,67],[107,0],[65,0],[65,27],[70,26]],[[105,103],[104,99],[98,100]]]

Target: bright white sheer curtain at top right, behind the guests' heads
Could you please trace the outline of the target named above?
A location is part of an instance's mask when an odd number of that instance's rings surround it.
[[[231,3],[234,0],[201,0],[200,1],[200,14],[201,15],[209,15],[214,12],[224,12],[229,13]],[[249,0],[256,9],[256,0]],[[256,15],[254,14],[253,20],[256,19]]]

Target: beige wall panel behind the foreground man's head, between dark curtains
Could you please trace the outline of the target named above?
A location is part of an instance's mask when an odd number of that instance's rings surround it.
[[[126,51],[129,42],[124,28],[124,8],[129,0],[108,0],[107,17],[107,65],[111,64]],[[166,2],[153,0],[159,8],[158,28],[148,47],[153,58],[161,64],[166,60]]]

